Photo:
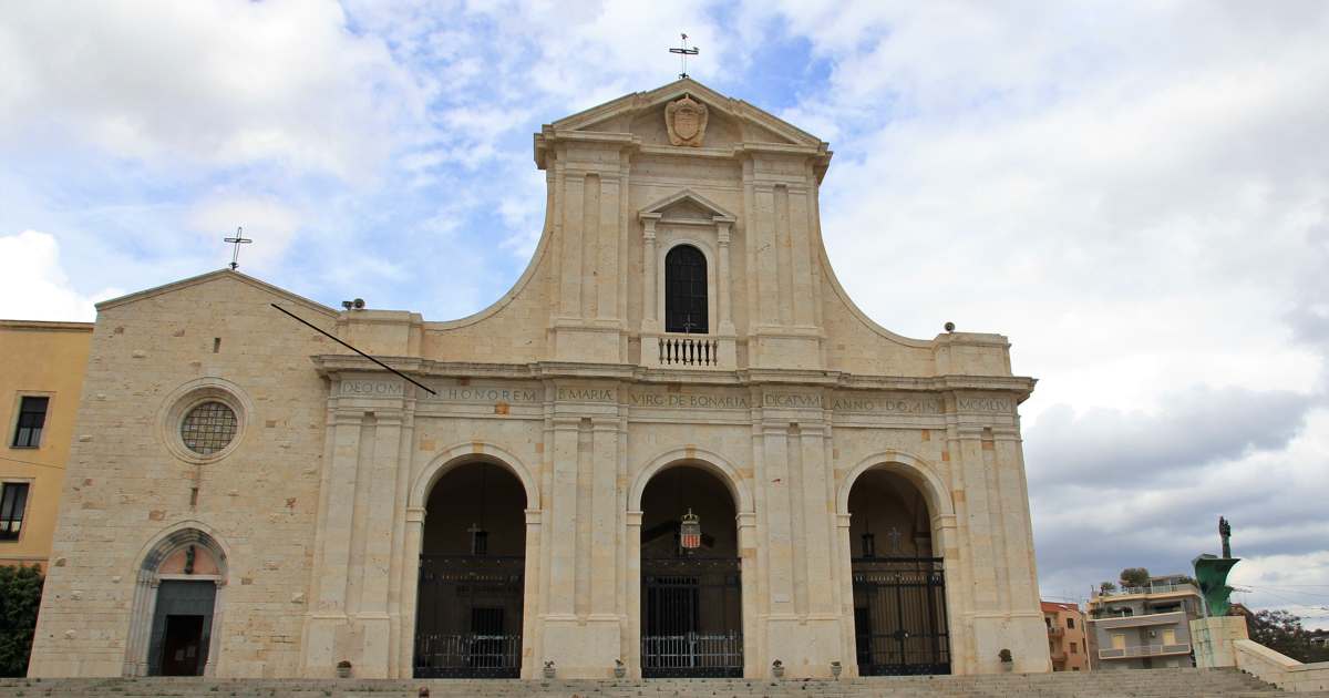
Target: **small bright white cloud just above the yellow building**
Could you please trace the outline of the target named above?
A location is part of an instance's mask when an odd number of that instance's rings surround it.
[[[0,318],[92,322],[94,303],[122,294],[120,289],[90,295],[76,290],[60,266],[54,235],[24,230],[0,237]]]

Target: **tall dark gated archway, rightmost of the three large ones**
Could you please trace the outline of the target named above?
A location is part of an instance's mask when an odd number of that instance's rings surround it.
[[[859,674],[949,674],[945,574],[922,493],[872,469],[853,483],[849,513]]]

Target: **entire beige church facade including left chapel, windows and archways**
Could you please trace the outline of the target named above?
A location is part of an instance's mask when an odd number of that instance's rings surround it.
[[[827,144],[684,78],[534,156],[472,316],[230,270],[98,306],[29,673],[1049,670],[1034,382],[852,303]]]

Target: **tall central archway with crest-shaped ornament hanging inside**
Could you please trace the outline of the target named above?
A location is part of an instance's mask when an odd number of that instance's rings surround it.
[[[743,589],[732,495],[679,465],[642,493],[642,677],[742,677]]]

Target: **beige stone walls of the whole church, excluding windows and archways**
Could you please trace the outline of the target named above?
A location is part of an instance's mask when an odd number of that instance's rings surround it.
[[[700,148],[661,132],[683,93],[714,120]],[[1017,413],[1033,380],[1011,375],[999,335],[906,339],[852,306],[820,239],[829,157],[688,80],[545,126],[545,231],[494,306],[445,323],[304,307],[432,394],[334,351],[266,308],[279,291],[230,273],[104,306],[33,673],[137,666],[128,628],[150,594],[124,580],[154,536],[197,525],[227,558],[215,673],[330,677],[347,659],[409,675],[425,504],[476,460],[525,492],[525,677],[545,661],[609,677],[615,658],[639,674],[641,497],[675,465],[735,501],[719,525],[736,526],[747,675],[773,659],[787,677],[856,673],[848,500],[874,468],[926,501],[953,670],[997,671],[1010,649],[1015,670],[1046,671]],[[704,335],[664,332],[663,261],[683,242],[707,258]],[[199,467],[154,429],[202,376],[238,386],[255,421]]]

